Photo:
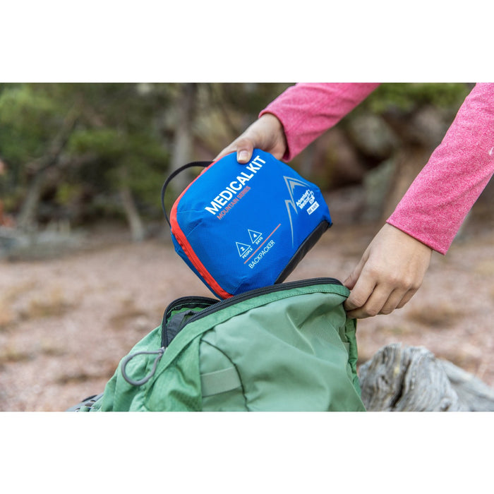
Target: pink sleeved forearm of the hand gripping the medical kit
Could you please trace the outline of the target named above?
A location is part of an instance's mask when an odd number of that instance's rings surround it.
[[[267,105],[260,116],[274,114],[282,122],[287,139],[283,159],[289,161],[335,126],[365,100],[376,83],[299,83]]]

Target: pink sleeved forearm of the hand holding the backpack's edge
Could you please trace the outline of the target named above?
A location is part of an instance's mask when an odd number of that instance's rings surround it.
[[[445,254],[494,173],[494,84],[477,84],[389,224]]]

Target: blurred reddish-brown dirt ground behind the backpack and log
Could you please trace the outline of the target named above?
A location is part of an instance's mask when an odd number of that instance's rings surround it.
[[[338,222],[289,279],[345,279],[380,225]],[[85,248],[44,260],[0,260],[0,411],[64,411],[102,392],[119,360],[179,296],[210,292],[169,236],[131,243],[95,229]],[[359,361],[402,342],[426,347],[494,387],[494,217],[472,214],[421,289],[390,315],[359,320]]]

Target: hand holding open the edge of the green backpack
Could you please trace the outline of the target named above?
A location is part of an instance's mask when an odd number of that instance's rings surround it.
[[[368,318],[402,308],[421,286],[431,255],[430,247],[385,224],[344,281],[351,290],[347,315]]]

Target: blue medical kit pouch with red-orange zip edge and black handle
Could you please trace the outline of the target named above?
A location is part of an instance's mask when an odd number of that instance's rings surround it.
[[[205,169],[179,195],[169,217],[164,193],[183,169]],[[281,283],[331,226],[320,189],[270,153],[236,153],[174,171],[162,205],[176,252],[221,299]]]

